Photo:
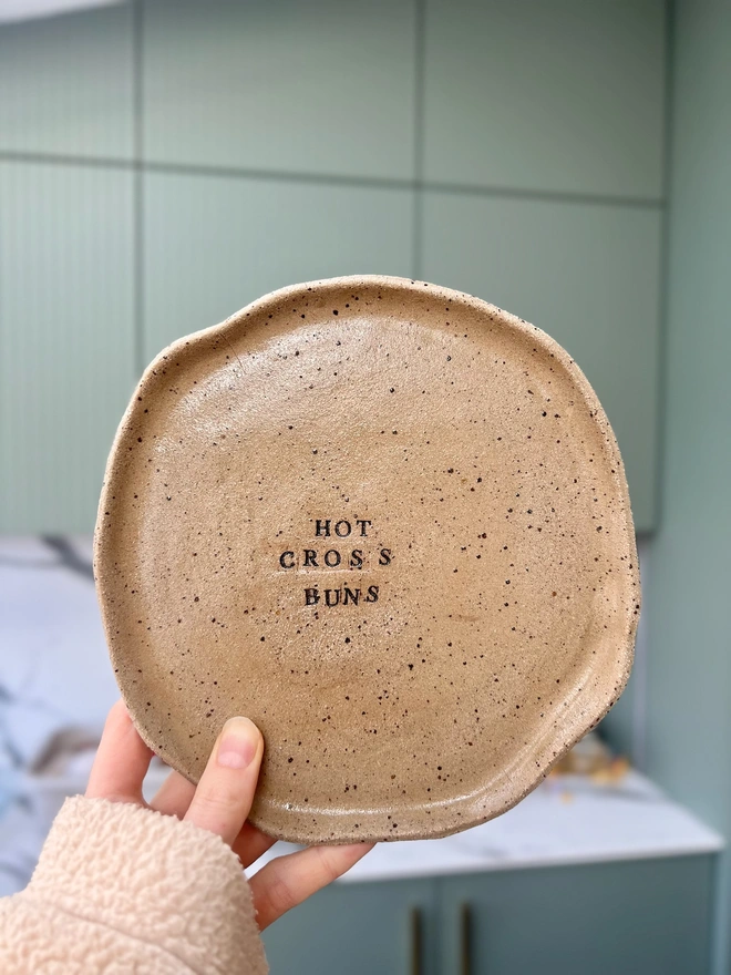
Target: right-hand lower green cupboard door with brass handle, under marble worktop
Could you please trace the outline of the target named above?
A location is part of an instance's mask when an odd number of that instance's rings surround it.
[[[443,973],[708,975],[711,856],[437,883]]]

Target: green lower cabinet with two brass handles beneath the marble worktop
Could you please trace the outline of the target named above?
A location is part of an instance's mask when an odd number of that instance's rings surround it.
[[[707,975],[713,858],[339,883],[265,932],[272,975]]]

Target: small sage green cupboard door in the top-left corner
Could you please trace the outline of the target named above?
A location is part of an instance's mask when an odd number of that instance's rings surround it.
[[[132,20],[130,2],[0,23],[0,151],[131,160]]]

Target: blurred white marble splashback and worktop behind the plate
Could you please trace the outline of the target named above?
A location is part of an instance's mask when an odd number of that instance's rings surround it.
[[[27,882],[54,809],[84,788],[90,755],[54,781],[29,769],[58,731],[97,738],[117,696],[91,540],[0,538],[0,894]],[[383,843],[347,881],[709,853],[722,844],[636,772],[611,786],[550,779],[467,832]],[[278,843],[265,861],[289,849]]]

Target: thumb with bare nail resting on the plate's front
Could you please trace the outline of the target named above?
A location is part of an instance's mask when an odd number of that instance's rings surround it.
[[[251,809],[262,755],[264,739],[253,721],[226,721],[185,820],[217,833],[230,845]]]

